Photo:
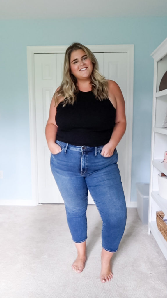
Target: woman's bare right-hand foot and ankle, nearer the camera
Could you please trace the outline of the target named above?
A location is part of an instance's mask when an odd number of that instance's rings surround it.
[[[108,282],[113,278],[113,273],[111,272],[111,257],[113,253],[105,253],[105,250],[102,250],[101,253],[101,262],[102,262],[102,269],[100,272],[100,280],[102,283]]]

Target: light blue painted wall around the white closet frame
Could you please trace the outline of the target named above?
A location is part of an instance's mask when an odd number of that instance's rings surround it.
[[[132,194],[149,182],[153,59],[167,17],[0,21],[0,199],[32,197],[26,46],[134,44]]]

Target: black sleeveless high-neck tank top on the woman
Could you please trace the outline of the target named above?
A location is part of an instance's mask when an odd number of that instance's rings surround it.
[[[108,98],[100,101],[92,91],[80,91],[74,105],[59,103],[56,112],[56,139],[75,146],[100,146],[109,142],[116,109]]]

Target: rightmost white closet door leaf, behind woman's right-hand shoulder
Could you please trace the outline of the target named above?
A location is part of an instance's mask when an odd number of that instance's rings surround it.
[[[125,105],[127,102],[127,53],[104,53],[104,76],[106,79],[115,81],[124,95]],[[128,129],[128,127],[127,127]],[[125,132],[126,134],[126,132]],[[119,144],[117,145],[118,151],[118,167],[121,174],[121,181],[124,188],[126,197],[127,188],[125,185],[126,175],[126,138],[125,134]]]

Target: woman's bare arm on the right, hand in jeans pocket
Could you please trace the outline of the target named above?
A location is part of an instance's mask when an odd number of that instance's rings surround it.
[[[120,142],[126,130],[125,102],[121,89],[114,81],[109,80],[109,94],[114,95],[116,103],[116,120],[110,141],[104,145],[102,155],[109,157],[113,155],[114,149]]]

